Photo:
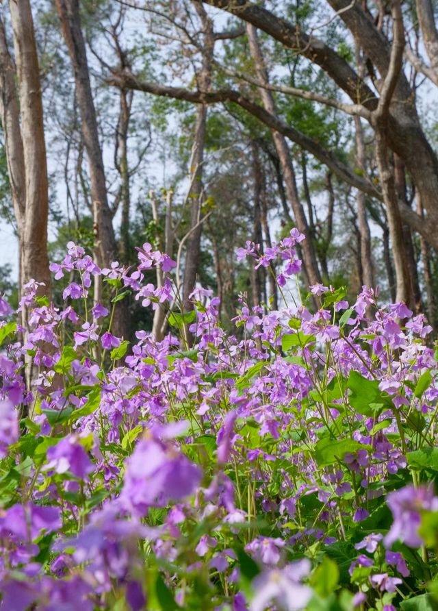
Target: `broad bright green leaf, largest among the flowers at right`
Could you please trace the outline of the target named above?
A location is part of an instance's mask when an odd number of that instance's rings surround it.
[[[378,388],[376,379],[367,379],[357,371],[350,371],[347,388],[350,390],[350,406],[363,416],[376,416],[384,408],[394,408],[389,395]]]

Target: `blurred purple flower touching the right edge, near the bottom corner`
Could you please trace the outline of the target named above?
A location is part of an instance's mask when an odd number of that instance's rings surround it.
[[[405,486],[390,492],[387,497],[389,509],[394,517],[394,523],[385,537],[385,546],[390,547],[394,541],[400,540],[409,547],[420,547],[423,540],[418,534],[421,522],[421,511],[438,510],[438,498],[433,490],[420,486]]]

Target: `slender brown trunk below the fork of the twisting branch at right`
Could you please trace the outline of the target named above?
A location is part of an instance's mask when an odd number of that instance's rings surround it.
[[[385,132],[378,129],[376,130],[376,157],[396,268],[396,301],[404,301],[408,307],[411,307],[414,301],[412,279],[406,251],[404,250],[402,220],[398,210],[398,196],[394,182],[394,173],[389,165]]]

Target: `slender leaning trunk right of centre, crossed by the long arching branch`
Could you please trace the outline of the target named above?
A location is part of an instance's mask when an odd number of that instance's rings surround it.
[[[266,72],[263,54],[261,53],[261,48],[259,45],[257,29],[250,23],[247,23],[246,32],[248,34],[251,57],[253,58],[255,66],[257,68],[258,78],[260,82],[267,83],[268,74]],[[268,112],[276,116],[277,112],[272,93],[263,87],[259,88],[259,92],[263,101],[263,106]],[[277,154],[279,155],[281,169],[283,171],[283,177],[285,179],[287,198],[289,199],[289,202],[292,206],[292,210],[294,212],[296,227],[298,228],[298,231],[300,231],[306,236],[306,239],[304,240],[304,242],[302,242],[302,254],[307,270],[307,276],[309,278],[310,284],[318,284],[319,282],[321,282],[320,271],[318,269],[315,249],[313,247],[313,241],[311,239],[312,236],[309,230],[309,225],[307,224],[306,215],[304,209],[302,208],[302,204],[298,199],[298,193],[296,192],[294,166],[292,164],[289,147],[287,147],[285,137],[282,134],[279,134],[279,132],[272,130],[272,138],[274,140],[274,145]]]

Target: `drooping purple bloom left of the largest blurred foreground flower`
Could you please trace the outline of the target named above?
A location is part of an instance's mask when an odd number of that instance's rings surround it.
[[[78,479],[86,479],[93,471],[93,465],[88,454],[79,441],[79,436],[68,435],[56,445],[47,450],[49,463],[45,470],[53,469],[55,473],[66,473],[70,471]]]

